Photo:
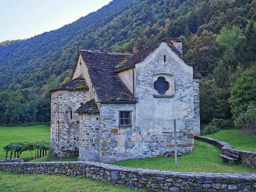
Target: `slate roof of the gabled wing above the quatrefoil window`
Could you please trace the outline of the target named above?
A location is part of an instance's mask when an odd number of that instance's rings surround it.
[[[170,39],[170,38],[169,38]],[[127,60],[125,62],[122,63],[122,65],[118,66],[116,68],[116,71],[121,71],[123,69],[126,69],[130,66],[134,66],[135,64],[137,63],[140,63],[142,62],[144,59],[146,59],[146,57],[153,53],[156,48],[158,48],[160,46],[160,44],[162,42],[165,42],[167,43],[167,45],[187,64],[187,65],[190,65],[190,66],[194,66],[183,54],[181,54],[179,52],[178,49],[176,49],[176,47],[173,46],[173,44],[170,42],[170,40],[165,38],[165,39],[162,39],[158,42],[156,42],[155,44],[151,45],[151,46],[148,46],[148,47],[145,47],[144,49],[142,49],[141,51],[138,51],[137,53],[135,54],[132,54],[129,56],[129,58],[127,58]],[[176,38],[172,38],[172,39],[176,39]]]

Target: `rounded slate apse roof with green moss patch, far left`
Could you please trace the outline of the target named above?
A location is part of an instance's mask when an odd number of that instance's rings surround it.
[[[81,88],[78,87],[80,85],[82,85]],[[88,89],[86,81],[83,78],[83,76],[79,76],[73,80],[70,80],[67,83],[64,83],[63,85],[55,87],[55,88],[49,90],[49,92],[53,92],[53,91],[57,91],[57,90],[79,90],[79,89]]]

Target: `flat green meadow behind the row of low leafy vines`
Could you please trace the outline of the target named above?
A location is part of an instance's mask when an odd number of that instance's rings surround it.
[[[50,127],[47,125],[35,125],[27,127],[0,126],[0,134],[0,160],[5,159],[5,151],[2,148],[10,142],[34,142],[42,140],[50,141]],[[31,153],[29,151],[23,152],[20,158],[28,161],[31,159]]]

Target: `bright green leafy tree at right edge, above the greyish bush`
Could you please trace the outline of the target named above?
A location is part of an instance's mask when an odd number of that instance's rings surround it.
[[[231,88],[228,100],[231,112],[237,117],[240,112],[246,111],[250,103],[256,103],[256,69],[246,69]]]

